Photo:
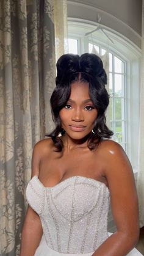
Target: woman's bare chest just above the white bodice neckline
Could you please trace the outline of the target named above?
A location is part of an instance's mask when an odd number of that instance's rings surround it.
[[[103,181],[103,164],[96,152],[81,149],[71,153],[52,152],[41,160],[39,177],[45,186],[77,175]]]

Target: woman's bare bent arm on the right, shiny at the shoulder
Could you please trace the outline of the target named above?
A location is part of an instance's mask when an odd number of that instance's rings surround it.
[[[139,210],[134,175],[123,148],[112,141],[104,143],[104,175],[109,185],[117,232],[107,238],[93,256],[125,256],[139,238]]]

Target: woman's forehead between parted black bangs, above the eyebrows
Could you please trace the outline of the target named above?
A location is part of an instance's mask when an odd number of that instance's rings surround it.
[[[88,82],[81,82],[81,81],[73,82],[73,84],[71,84],[70,98],[71,100],[74,100],[74,99],[85,100],[90,98]]]

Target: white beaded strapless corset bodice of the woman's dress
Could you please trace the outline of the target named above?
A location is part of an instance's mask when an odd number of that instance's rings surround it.
[[[74,176],[46,188],[34,176],[27,202],[38,213],[46,243],[67,254],[85,254],[107,239],[109,189],[92,178]]]

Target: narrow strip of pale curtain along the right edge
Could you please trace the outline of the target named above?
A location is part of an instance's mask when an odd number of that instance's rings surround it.
[[[140,83],[140,126],[139,126],[139,166],[137,192],[139,197],[140,227],[144,226],[144,1],[142,4],[142,62]]]

